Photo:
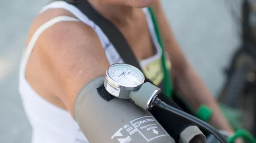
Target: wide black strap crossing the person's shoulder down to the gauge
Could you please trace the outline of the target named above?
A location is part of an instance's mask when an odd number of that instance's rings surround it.
[[[101,30],[109,38],[109,41],[114,45],[125,63],[133,65],[141,70],[140,64],[138,63],[137,58],[135,57],[133,52],[131,51],[129,44],[125,40],[125,37],[111,21],[100,15],[90,5],[90,3],[88,3],[87,0],[79,0],[78,2],[71,4],[77,7],[81,12],[83,12],[83,14],[85,14],[89,19],[91,19],[101,28]]]

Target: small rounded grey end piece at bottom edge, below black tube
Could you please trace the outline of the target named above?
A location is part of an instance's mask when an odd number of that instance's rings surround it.
[[[197,126],[189,126],[180,134],[179,143],[206,143],[206,136]]]

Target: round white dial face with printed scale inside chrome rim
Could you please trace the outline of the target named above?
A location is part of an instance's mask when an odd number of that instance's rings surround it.
[[[135,86],[143,82],[144,75],[134,66],[115,64],[109,67],[109,77],[120,85]]]

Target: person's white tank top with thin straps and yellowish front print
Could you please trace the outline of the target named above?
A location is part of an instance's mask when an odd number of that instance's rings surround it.
[[[83,135],[78,124],[74,121],[68,111],[54,106],[47,100],[43,99],[29,85],[25,78],[25,70],[29,56],[33,50],[36,40],[48,27],[56,24],[57,22],[81,21],[92,27],[97,33],[100,42],[105,49],[105,54],[110,65],[114,63],[123,63],[123,60],[100,27],[92,20],[88,19],[88,17],[86,17],[86,15],[84,15],[79,9],[67,2],[57,1],[46,5],[40,13],[48,9],[65,9],[75,15],[77,19],[69,16],[59,16],[49,20],[37,29],[30,39],[26,51],[24,50],[23,52],[19,71],[19,92],[21,94],[24,110],[33,128],[32,143],[88,143],[88,140],[86,140],[85,137],[86,134],[85,136]],[[154,83],[159,84],[161,80],[163,80],[163,71],[161,70],[162,51],[159,43],[157,42],[150,13],[147,8],[144,8],[143,12],[147,18],[150,35],[157,53],[150,58],[141,60],[140,65],[144,70],[145,76],[153,80]],[[168,63],[168,68],[170,69],[170,61],[168,59],[166,59],[166,61]]]

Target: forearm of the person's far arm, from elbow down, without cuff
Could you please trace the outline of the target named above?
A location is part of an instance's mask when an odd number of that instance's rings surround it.
[[[182,98],[194,111],[197,111],[202,104],[205,104],[213,110],[210,124],[217,129],[233,132],[220,111],[216,100],[192,67],[188,67],[184,72],[174,72],[173,74],[175,76],[174,84],[176,89],[182,93]]]

